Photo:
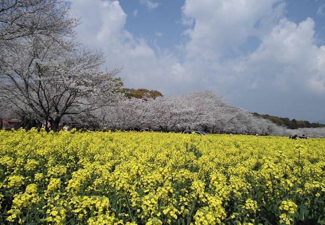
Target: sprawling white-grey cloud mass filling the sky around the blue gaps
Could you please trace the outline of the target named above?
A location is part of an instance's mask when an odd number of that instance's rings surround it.
[[[324,100],[325,46],[315,44],[311,18],[296,24],[283,16],[282,0],[186,0],[189,40],[179,52],[153,48],[151,40],[129,33],[118,1],[71,2],[84,21],[77,28],[80,41],[104,50],[104,67],[123,66],[127,87],[166,95],[212,89],[234,105],[279,116],[288,107],[296,116],[305,113],[301,99]],[[243,53],[249,36],[259,42]]]

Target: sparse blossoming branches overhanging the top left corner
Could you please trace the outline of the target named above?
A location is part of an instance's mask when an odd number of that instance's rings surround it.
[[[79,19],[69,14],[63,0],[2,0],[0,40],[42,34],[73,34]]]

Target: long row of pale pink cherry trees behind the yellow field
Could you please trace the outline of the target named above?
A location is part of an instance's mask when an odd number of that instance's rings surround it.
[[[97,129],[183,131],[199,129],[212,133],[293,135],[324,137],[324,128],[287,129],[229,106],[212,91],[197,91],[182,96],[126,98],[110,105],[64,119],[72,126]]]

